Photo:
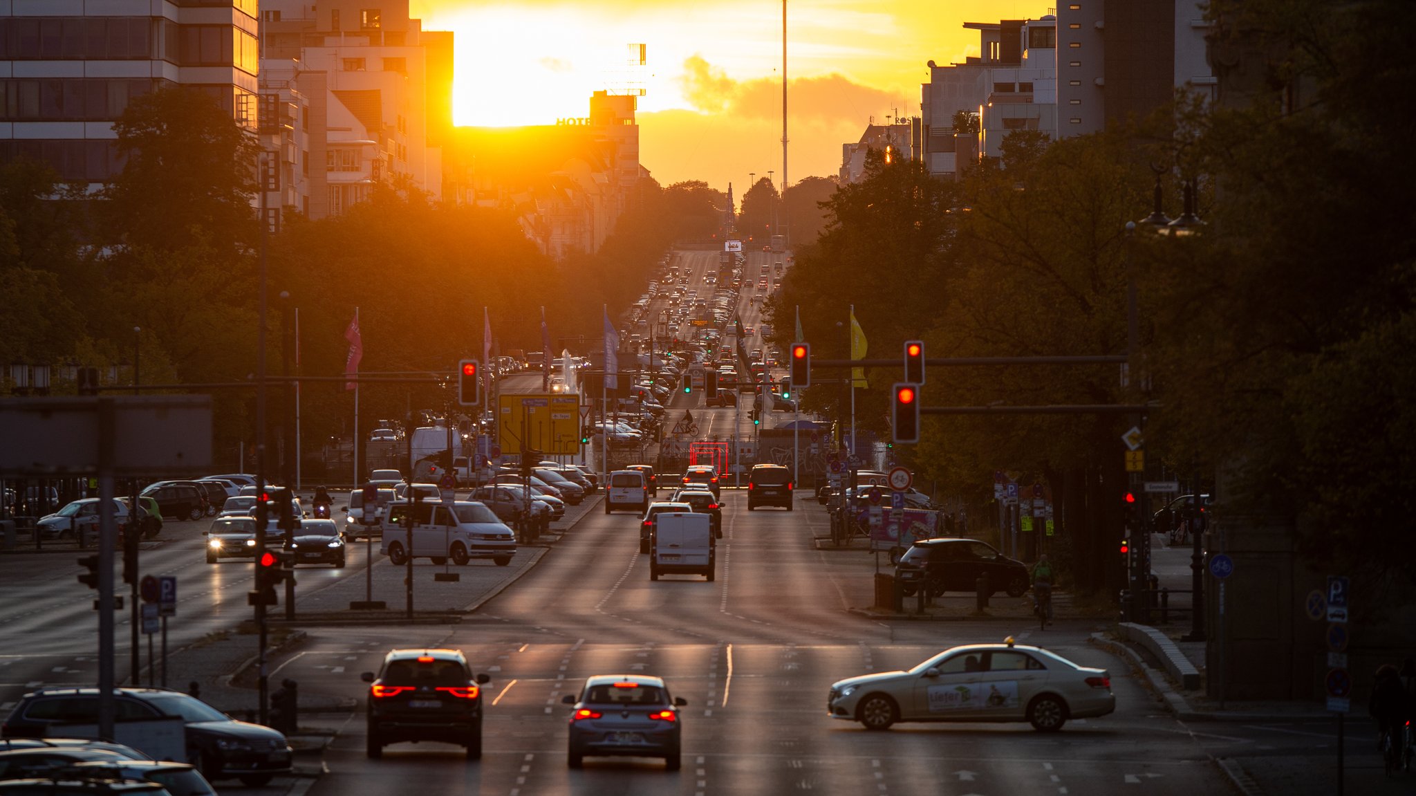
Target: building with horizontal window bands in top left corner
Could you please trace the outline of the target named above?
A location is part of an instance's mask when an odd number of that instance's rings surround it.
[[[255,132],[256,0],[0,3],[0,161],[91,188],[122,170],[113,122],[164,86],[210,93]]]

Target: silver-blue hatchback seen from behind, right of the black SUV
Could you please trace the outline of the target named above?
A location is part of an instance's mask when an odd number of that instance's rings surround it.
[[[596,674],[561,701],[571,705],[569,768],[581,768],[586,756],[664,758],[666,769],[681,768],[678,708],[688,701],[671,697],[661,677]]]

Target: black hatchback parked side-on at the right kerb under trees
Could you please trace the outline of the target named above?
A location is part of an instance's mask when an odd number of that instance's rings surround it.
[[[1008,558],[991,545],[977,540],[940,538],[919,540],[895,565],[895,578],[905,596],[920,585],[932,595],[977,591],[976,581],[988,574],[988,593],[1003,589],[1008,596],[1022,596],[1031,578],[1028,567]]]

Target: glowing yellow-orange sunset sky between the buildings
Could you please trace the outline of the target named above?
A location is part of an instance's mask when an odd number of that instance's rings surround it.
[[[456,34],[459,125],[583,116],[596,89],[643,88],[640,161],[661,184],[707,180],[741,197],[782,180],[779,0],[411,0],[423,30]],[[925,62],[977,55],[964,21],[1028,18],[1014,0],[789,0],[789,177],[831,176],[874,116],[919,113]],[[630,44],[647,65],[633,67]]]

